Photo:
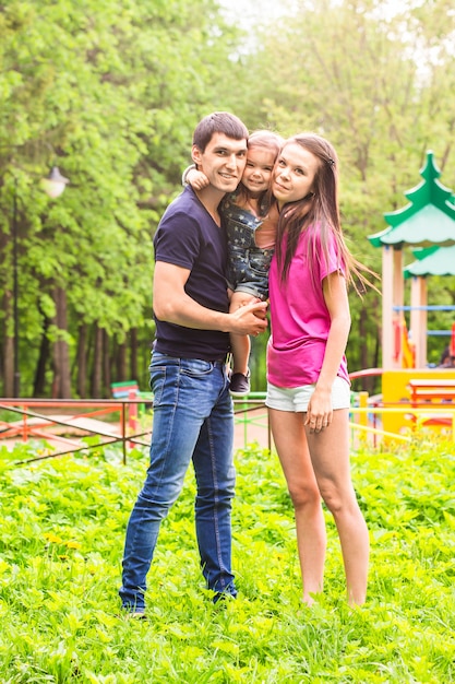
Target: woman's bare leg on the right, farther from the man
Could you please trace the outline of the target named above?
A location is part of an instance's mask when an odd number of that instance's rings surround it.
[[[370,544],[350,477],[348,415],[347,409],[334,411],[331,425],[319,434],[307,428],[307,438],[319,490],[338,530],[352,605],[366,600]]]

